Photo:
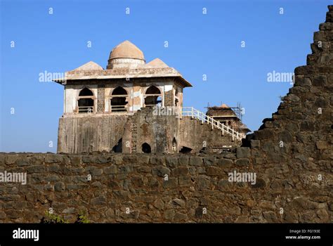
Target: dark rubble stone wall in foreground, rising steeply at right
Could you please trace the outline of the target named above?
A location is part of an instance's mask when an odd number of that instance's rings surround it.
[[[233,153],[1,153],[0,171],[27,184],[0,183],[0,221],[39,222],[52,207],[69,221],[332,223],[332,41],[329,6],[278,111]],[[256,183],[228,181],[235,170]]]

